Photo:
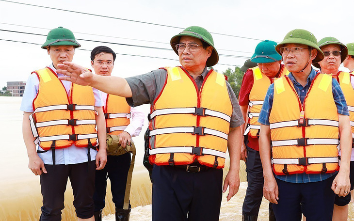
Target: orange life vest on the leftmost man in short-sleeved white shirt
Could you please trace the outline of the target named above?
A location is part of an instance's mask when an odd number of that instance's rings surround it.
[[[95,97],[90,86],[71,84],[70,95],[58,76],[48,67],[34,71],[39,90],[33,100],[30,124],[35,143],[44,150],[75,144],[97,144]]]

